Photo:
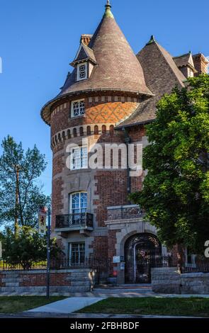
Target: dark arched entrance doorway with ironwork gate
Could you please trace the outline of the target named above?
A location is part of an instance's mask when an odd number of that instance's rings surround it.
[[[125,283],[150,283],[151,268],[162,254],[162,245],[155,235],[135,234],[125,242]]]

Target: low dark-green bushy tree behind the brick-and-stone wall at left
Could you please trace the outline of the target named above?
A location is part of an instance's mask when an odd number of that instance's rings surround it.
[[[14,235],[6,228],[1,233],[2,258],[7,264],[21,264],[23,269],[30,269],[34,263],[47,259],[47,237],[40,235],[32,227],[19,227]],[[62,250],[56,244],[56,239],[50,240],[50,257],[57,259],[62,256]]]

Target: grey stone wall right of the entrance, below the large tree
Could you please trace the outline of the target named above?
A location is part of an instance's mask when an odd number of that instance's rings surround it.
[[[177,268],[151,271],[154,293],[209,294],[209,273],[179,273]]]

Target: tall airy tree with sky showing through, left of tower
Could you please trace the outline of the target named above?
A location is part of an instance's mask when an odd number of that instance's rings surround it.
[[[2,141],[0,157],[0,225],[35,227],[38,209],[49,204],[50,198],[38,185],[38,177],[45,170],[45,155],[36,146],[24,152],[22,144],[13,137]]]

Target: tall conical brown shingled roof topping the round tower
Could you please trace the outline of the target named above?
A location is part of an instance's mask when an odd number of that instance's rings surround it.
[[[140,63],[106,5],[106,12],[88,47],[94,52],[97,66],[89,79],[77,81],[76,69],[62,87],[60,95],[85,90],[135,91],[152,95],[145,84]]]

